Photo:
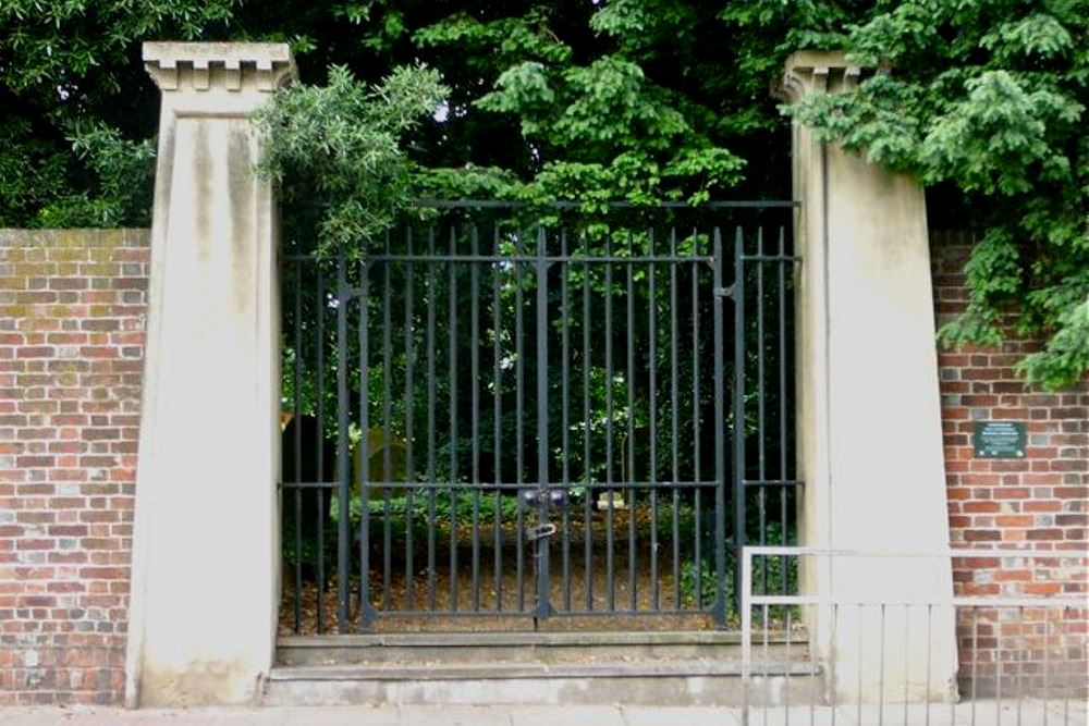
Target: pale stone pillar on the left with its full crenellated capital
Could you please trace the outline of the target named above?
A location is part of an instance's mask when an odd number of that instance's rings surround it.
[[[287,47],[144,45],[162,90],[125,700],[237,703],[279,605],[278,223],[248,114]]]

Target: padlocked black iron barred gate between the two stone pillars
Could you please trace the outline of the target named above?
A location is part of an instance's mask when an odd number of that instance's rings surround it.
[[[282,630],[729,626],[737,547],[793,542],[792,207],[458,202],[289,246]]]

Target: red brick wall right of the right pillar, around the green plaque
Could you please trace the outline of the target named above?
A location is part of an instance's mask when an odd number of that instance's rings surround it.
[[[931,235],[939,323],[967,303],[962,270],[968,242],[964,235]],[[965,595],[1085,601],[1089,380],[1062,392],[1026,389],[1014,364],[1036,348],[1032,341],[1013,340],[998,349],[939,355],[953,545],[1031,547],[1040,553],[1033,558],[956,561],[954,580]],[[975,422],[988,420],[1025,423],[1024,458],[975,456]],[[1045,679],[1049,691],[1062,686],[1072,696],[1084,693],[1087,615],[1087,608],[962,611],[962,688],[970,690],[975,673],[977,693],[993,692],[1001,662],[1006,693],[1018,687],[1040,692]]]

